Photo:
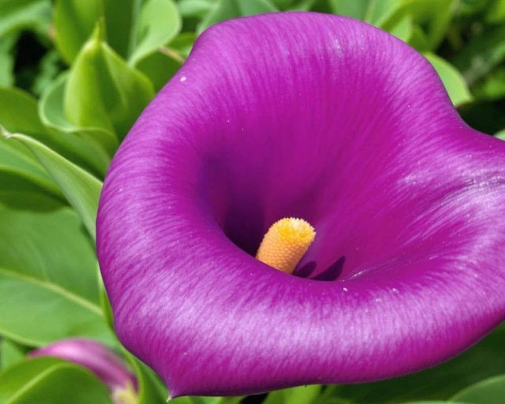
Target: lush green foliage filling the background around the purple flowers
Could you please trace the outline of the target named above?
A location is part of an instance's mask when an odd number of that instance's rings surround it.
[[[410,43],[438,71],[463,118],[505,139],[505,0],[0,0],[0,402],[111,403],[87,370],[25,357],[70,336],[122,350],[94,251],[110,160],[201,31],[285,10],[352,16]],[[505,396],[503,341],[502,326],[460,357],[414,375],[244,400],[497,404]],[[123,353],[139,380],[139,402],[165,402],[156,375]]]

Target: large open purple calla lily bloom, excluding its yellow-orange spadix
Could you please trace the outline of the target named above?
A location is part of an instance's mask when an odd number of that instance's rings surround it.
[[[98,258],[121,341],[171,395],[378,380],[505,318],[505,143],[367,24],[283,13],[206,31],[121,145]],[[283,217],[294,275],[255,259]]]

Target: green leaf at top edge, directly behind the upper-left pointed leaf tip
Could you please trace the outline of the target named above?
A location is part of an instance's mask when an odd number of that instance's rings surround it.
[[[55,6],[56,47],[71,64],[103,15],[103,0],[63,0]]]

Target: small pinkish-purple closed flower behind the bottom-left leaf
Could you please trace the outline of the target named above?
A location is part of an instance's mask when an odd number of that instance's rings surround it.
[[[30,352],[31,357],[56,357],[94,373],[111,390],[115,404],[135,404],[137,381],[107,346],[92,339],[69,338]]]

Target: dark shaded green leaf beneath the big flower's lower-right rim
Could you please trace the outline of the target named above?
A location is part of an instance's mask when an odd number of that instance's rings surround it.
[[[338,386],[336,394],[353,403],[389,404],[448,400],[462,388],[505,373],[505,324],[474,347],[442,365],[382,382]]]

